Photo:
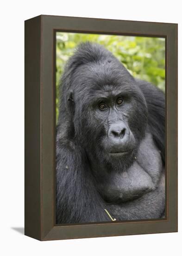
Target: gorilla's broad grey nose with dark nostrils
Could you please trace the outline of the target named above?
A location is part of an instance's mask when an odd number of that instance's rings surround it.
[[[128,132],[124,122],[112,124],[108,131],[109,137],[112,138],[112,140],[114,141],[123,140],[126,134],[128,134]]]

